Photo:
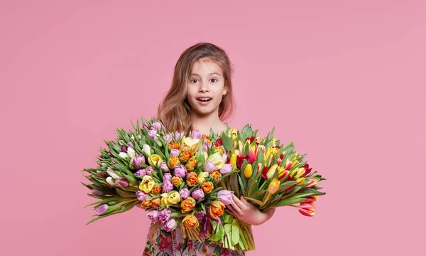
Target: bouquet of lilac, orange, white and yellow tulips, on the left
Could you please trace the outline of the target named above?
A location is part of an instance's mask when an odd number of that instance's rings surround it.
[[[109,150],[100,149],[99,167],[83,170],[92,181],[83,183],[88,195],[99,199],[87,205],[96,211],[89,223],[140,204],[167,233],[181,225],[183,238],[210,238],[212,223],[223,225],[219,216],[231,203],[232,192],[217,186],[233,172],[227,154],[197,130],[189,137],[166,132],[157,119],[133,128],[116,129],[116,141],[105,141]]]

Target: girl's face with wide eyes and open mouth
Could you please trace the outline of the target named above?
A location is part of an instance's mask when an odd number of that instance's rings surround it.
[[[217,112],[223,95],[226,95],[224,76],[219,65],[201,59],[194,63],[187,82],[187,100],[192,112],[206,116]]]

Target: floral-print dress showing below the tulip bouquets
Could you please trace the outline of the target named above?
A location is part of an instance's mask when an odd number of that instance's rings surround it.
[[[151,223],[143,256],[241,256],[244,251],[229,250],[211,242],[182,239],[180,227],[176,228],[175,237],[166,235],[159,225]]]

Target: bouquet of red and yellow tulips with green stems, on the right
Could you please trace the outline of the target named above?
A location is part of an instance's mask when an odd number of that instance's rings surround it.
[[[293,206],[306,216],[315,214],[315,201],[324,195],[317,186],[324,180],[312,172],[304,155],[297,154],[293,142],[280,144],[273,137],[274,129],[266,138],[257,137],[257,130],[246,125],[241,131],[228,129],[225,134],[211,134],[215,146],[223,147],[229,154],[233,172],[221,179],[219,186],[244,196],[261,211],[271,207]],[[217,242],[222,247],[235,250],[254,250],[250,225],[225,213],[224,225],[214,224]]]

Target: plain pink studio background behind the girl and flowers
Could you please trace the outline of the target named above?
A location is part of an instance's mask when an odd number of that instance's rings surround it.
[[[84,225],[80,171],[199,41],[234,63],[231,126],[275,126],[327,178],[247,255],[426,255],[426,1],[1,1],[0,33],[2,255],[142,254],[141,210]]]

